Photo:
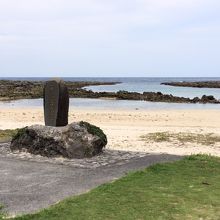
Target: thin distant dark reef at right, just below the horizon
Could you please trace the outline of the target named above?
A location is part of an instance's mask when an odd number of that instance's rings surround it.
[[[200,81],[200,82],[163,82],[161,85],[196,87],[196,88],[220,88],[220,81]]]

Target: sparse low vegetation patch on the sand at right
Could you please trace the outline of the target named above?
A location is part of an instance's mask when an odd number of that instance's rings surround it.
[[[197,143],[202,145],[213,145],[220,143],[220,136],[213,133],[197,134],[197,133],[170,133],[170,132],[156,132],[141,136],[142,140],[147,142],[173,142],[178,141],[181,144]]]

